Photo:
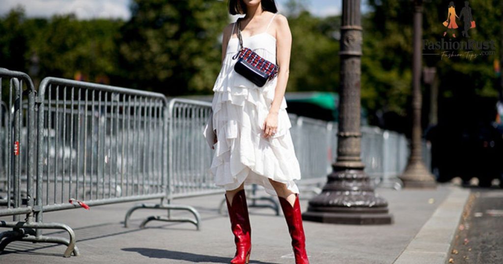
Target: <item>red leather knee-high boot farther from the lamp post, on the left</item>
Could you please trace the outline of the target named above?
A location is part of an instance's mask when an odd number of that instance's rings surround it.
[[[227,195],[225,195],[225,201],[227,201],[230,226],[236,244],[236,253],[230,262],[232,264],[247,264],[251,253],[251,227],[244,190],[234,195],[232,206],[227,200]]]

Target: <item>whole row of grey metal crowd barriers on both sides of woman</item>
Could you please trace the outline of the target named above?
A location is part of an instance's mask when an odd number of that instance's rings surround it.
[[[98,206],[160,199],[138,204],[125,215],[124,225],[139,209],[167,212],[152,220],[190,222],[200,228],[200,216],[174,199],[224,192],[207,173],[214,150],[201,132],[211,104],[162,94],[61,78],[45,78],[38,94],[30,77],[0,68],[0,251],[12,241],[50,242],[67,246],[64,256],[78,255],[73,230],[45,223],[43,214],[80,206]],[[301,192],[320,193],[337,158],[338,126],[289,115],[302,179]],[[361,157],[365,171],[380,186],[401,188],[398,175],[408,157],[406,138],[376,127],[362,127]],[[429,145],[423,159],[430,165]],[[270,196],[247,187],[249,207],[269,207]],[[260,203],[267,202],[267,203]],[[220,211],[225,200],[220,203]],[[183,210],[193,217],[172,217]],[[21,215],[26,217],[21,220]],[[69,238],[46,236],[43,229],[65,230]]]

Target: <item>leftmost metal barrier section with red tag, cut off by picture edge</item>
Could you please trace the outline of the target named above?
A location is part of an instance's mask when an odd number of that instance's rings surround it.
[[[23,100],[29,102],[28,109],[21,107]],[[33,208],[33,200],[27,199],[27,194],[33,191],[33,162],[22,162],[23,156],[33,158],[33,148],[21,148],[33,144],[35,139],[35,89],[30,77],[22,72],[0,68],[0,102],[0,135],[3,136],[0,151],[0,216],[13,215],[13,220],[18,221],[21,214],[28,214],[31,218]],[[27,135],[24,120],[31,124],[30,136]],[[25,183],[21,181],[22,173],[28,177]]]

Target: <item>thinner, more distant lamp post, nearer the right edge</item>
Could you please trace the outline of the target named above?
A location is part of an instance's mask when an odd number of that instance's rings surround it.
[[[423,0],[414,0],[414,46],[412,57],[412,138],[410,156],[400,176],[405,188],[436,188],[432,173],[423,163],[421,148],[421,36],[423,35]]]

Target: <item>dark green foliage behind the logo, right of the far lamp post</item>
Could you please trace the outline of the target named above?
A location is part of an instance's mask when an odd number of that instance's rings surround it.
[[[424,39],[440,41],[446,28],[442,25],[447,19],[448,3],[432,0],[425,4]],[[464,7],[464,1],[455,2],[456,14],[459,16]],[[473,96],[497,96],[498,85],[493,70],[493,61],[499,59],[498,47],[501,40],[501,2],[498,0],[470,1],[472,16],[477,27],[469,30],[470,38],[462,37],[463,22],[456,20],[458,29],[456,38],[446,36],[444,40],[475,41],[495,40],[494,55],[477,56],[467,59],[453,57],[440,60],[437,56],[424,56],[425,64],[435,66],[439,72],[441,96],[470,98]],[[475,50],[473,53],[478,53]],[[465,51],[455,52],[465,53]]]

